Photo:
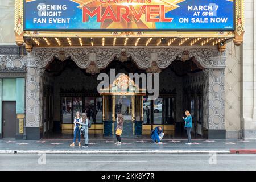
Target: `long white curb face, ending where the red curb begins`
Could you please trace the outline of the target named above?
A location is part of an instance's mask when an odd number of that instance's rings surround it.
[[[0,150],[0,154],[230,154],[230,150]]]

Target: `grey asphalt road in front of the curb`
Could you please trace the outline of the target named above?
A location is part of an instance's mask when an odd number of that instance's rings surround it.
[[[0,155],[0,170],[54,171],[70,169],[96,171],[247,171],[256,170],[256,154],[45,154],[40,156],[38,154]]]

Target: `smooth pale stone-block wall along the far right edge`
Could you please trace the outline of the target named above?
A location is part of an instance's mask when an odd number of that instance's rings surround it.
[[[245,1],[245,36],[242,45],[242,137],[256,139],[256,2]]]

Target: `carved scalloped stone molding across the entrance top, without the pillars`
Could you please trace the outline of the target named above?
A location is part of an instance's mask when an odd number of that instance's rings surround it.
[[[184,52],[187,55],[184,57]],[[175,59],[192,59],[201,68],[214,69],[225,68],[226,51],[219,52],[212,48],[114,48],[114,47],[95,47],[95,48],[34,48],[31,52],[31,66],[38,68],[46,67],[53,58],[64,61],[72,59],[81,69],[87,69],[92,62],[98,69],[108,67],[114,59],[126,61],[128,57],[135,62],[140,69],[152,69],[156,65],[160,69],[167,68]],[[155,63],[154,63],[155,64]],[[159,72],[159,71],[158,71]]]

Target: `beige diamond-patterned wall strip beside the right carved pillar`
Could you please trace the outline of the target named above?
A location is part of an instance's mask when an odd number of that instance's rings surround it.
[[[227,139],[241,138],[241,46],[226,47],[225,129]]]

